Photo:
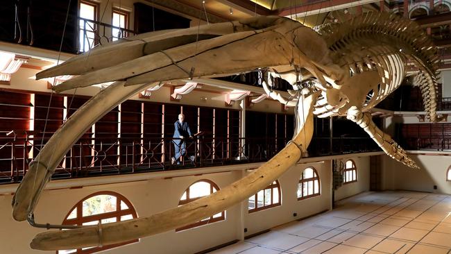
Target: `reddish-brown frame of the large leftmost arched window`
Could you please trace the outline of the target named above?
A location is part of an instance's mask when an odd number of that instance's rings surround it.
[[[83,202],[85,202],[89,198],[92,198],[94,196],[100,196],[100,195],[109,195],[109,196],[116,197],[116,211],[105,212],[102,214],[94,214],[94,215],[90,215],[87,217],[83,217]],[[121,201],[126,203],[126,205],[128,206],[127,209],[121,210]],[[67,217],[69,217],[69,215],[71,214],[71,212],[74,209],[77,209],[76,218],[75,219],[67,219]],[[101,219],[108,219],[108,218],[112,218],[112,217],[119,218],[117,221],[121,221],[120,220],[121,216],[129,215],[129,214],[132,215],[133,219],[137,219],[137,212],[136,212],[133,204],[130,201],[128,201],[128,199],[125,196],[123,196],[117,192],[111,192],[111,191],[94,192],[93,194],[90,194],[90,195],[82,198],[69,210],[69,212],[67,212],[65,219],[62,221],[62,225],[83,225],[83,223],[85,223],[85,222],[95,221],[95,220],[100,221]],[[107,215],[107,216],[102,217],[102,215]],[[88,219],[85,219],[85,218],[88,218]],[[126,242],[121,242],[119,244],[109,244],[109,245],[105,245],[105,246],[101,246],[101,247],[98,246],[98,247],[89,248],[86,250],[83,250],[82,248],[77,248],[76,252],[74,252],[74,253],[83,253],[83,254],[96,253],[99,251],[105,251],[110,248],[115,248],[117,246],[124,246],[126,244],[132,244],[135,242],[139,242],[139,239],[133,239],[133,240],[126,241]],[[62,251],[62,250],[60,250],[60,251]],[[56,251],[56,253],[59,253],[59,251]]]

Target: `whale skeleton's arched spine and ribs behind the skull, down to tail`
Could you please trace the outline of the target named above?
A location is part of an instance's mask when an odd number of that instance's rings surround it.
[[[318,28],[318,33],[340,67],[348,66],[352,73],[377,69],[384,78],[374,94],[377,98],[362,111],[372,108],[400,85],[405,76],[405,62],[409,61],[419,71],[416,84],[422,90],[429,121],[439,120],[436,115],[439,55],[418,24],[395,13],[366,12],[346,24],[325,24]]]

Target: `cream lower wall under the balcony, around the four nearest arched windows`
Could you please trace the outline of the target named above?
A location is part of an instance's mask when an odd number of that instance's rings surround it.
[[[360,164],[359,158],[354,158],[354,160]],[[94,192],[106,190],[124,195],[133,204],[138,216],[146,217],[155,212],[176,207],[185,189],[196,180],[209,179],[219,185],[220,188],[229,185],[245,175],[245,164],[237,165],[236,167],[236,170],[234,169],[233,171],[207,173],[202,176],[180,176],[167,179],[162,177],[82,188],[47,189],[44,190],[37,205],[35,219],[37,223],[60,224],[75,203]],[[321,179],[321,196],[298,201],[296,197],[298,180],[306,167],[314,167],[318,172],[318,176]],[[180,232],[171,230],[143,238],[139,243],[105,251],[105,253],[132,254],[149,253],[149,251],[165,254],[196,253],[235,239],[243,239],[246,235],[252,235],[255,232],[260,232],[282,223],[323,212],[331,207],[331,172],[330,160],[297,164],[279,178],[282,188],[282,205],[279,207],[248,214],[248,202],[246,200],[226,210],[225,221]],[[74,180],[62,181],[69,182]],[[10,187],[1,185],[0,193],[2,193],[2,188]],[[32,228],[26,222],[14,221],[11,217],[11,200],[11,194],[0,195],[1,253],[44,253],[33,251],[28,246],[31,239],[38,232],[43,232],[44,230]],[[298,214],[297,217],[293,217],[293,212]],[[246,234],[244,234],[244,228],[248,228]],[[46,253],[54,252],[49,251]]]

